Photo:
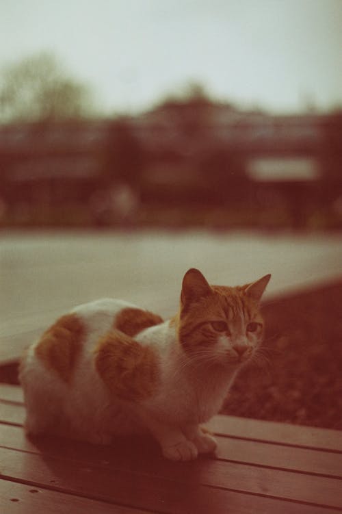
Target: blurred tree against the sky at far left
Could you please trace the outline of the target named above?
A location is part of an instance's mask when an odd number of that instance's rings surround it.
[[[89,88],[68,77],[51,53],[25,57],[0,72],[0,122],[82,118],[90,112]]]

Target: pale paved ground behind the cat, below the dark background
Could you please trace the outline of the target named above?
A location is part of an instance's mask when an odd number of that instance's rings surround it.
[[[73,305],[112,296],[162,316],[176,311],[183,274],[237,285],[272,273],[267,296],[342,275],[339,235],[267,233],[5,233],[0,237],[0,361]]]

